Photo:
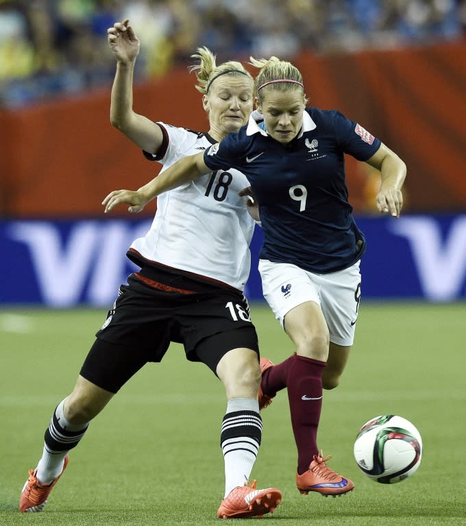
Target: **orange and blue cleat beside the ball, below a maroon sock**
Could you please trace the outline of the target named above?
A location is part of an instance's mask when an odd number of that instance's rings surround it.
[[[300,493],[307,495],[310,491],[317,491],[323,497],[338,497],[354,489],[352,481],[327,466],[326,462],[330,458],[331,455],[322,458],[320,452],[319,455],[314,455],[308,471],[302,475],[296,473],[296,486]]]

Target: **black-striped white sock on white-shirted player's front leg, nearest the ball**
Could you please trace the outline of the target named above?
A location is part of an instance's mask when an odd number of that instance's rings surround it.
[[[249,398],[228,401],[220,436],[225,461],[225,497],[236,486],[243,486],[249,480],[261,436],[258,401]]]

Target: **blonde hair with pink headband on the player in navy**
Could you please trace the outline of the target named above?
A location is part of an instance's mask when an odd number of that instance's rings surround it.
[[[303,77],[299,69],[291,62],[280,60],[277,57],[269,59],[249,57],[249,60],[252,66],[260,69],[256,77],[256,96],[260,104],[263,101],[262,89],[266,87],[282,92],[291,89],[302,90],[304,103],[307,103]]]

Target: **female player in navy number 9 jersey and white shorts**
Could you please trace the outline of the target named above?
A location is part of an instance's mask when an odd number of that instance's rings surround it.
[[[262,288],[296,352],[273,365],[261,358],[259,404],[287,388],[300,492],[341,494],[354,484],[332,471],[317,447],[322,390],[334,388],[354,340],[365,238],[352,216],[344,154],[381,174],[378,210],[399,216],[404,162],[336,110],[306,108],[302,75],[289,62],[254,60],[258,110],[238,133],[184,158],[130,202],[145,202],[212,170],[237,168],[249,180],[264,231]],[[127,196],[125,196],[127,197]],[[116,193],[106,199],[110,210]],[[326,480],[323,481],[323,478]]]

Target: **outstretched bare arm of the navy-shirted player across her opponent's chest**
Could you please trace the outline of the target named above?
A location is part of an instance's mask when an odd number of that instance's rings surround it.
[[[105,206],[105,213],[107,214],[120,203],[130,205],[128,212],[140,212],[149,201],[162,192],[173,190],[173,188],[182,186],[182,184],[193,181],[193,179],[209,172],[209,168],[204,163],[204,151],[195,155],[188,155],[172,164],[167,170],[136,191],[114,190],[110,192],[102,201]]]

